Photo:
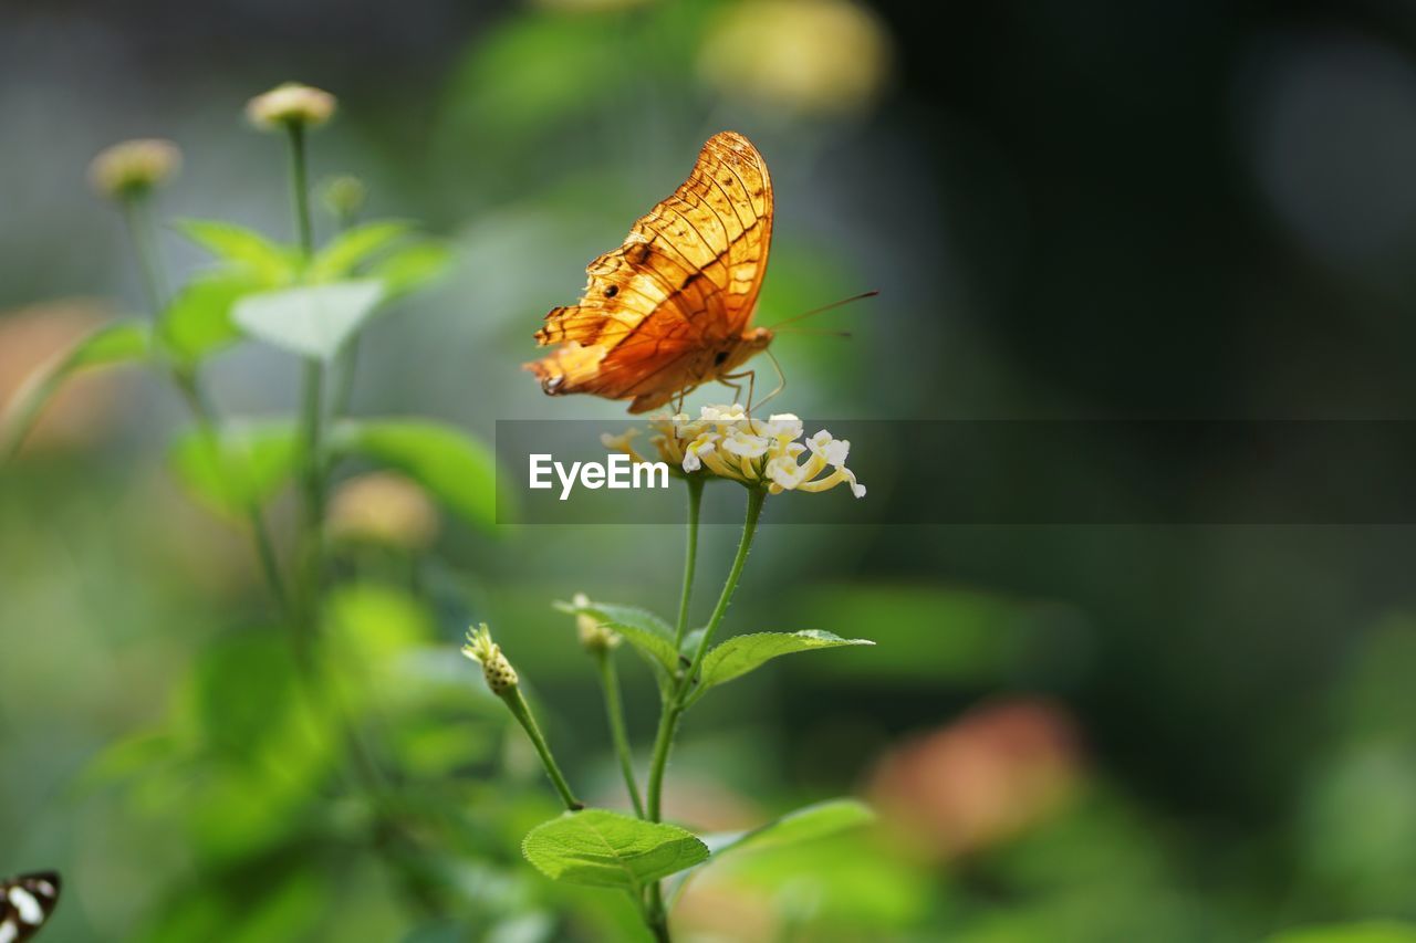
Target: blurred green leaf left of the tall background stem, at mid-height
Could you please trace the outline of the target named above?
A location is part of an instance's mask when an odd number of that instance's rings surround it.
[[[170,459],[178,480],[204,504],[244,517],[269,500],[295,473],[300,446],[289,419],[228,422],[215,438],[183,432]]]

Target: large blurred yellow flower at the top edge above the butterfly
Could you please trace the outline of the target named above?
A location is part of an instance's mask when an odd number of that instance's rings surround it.
[[[891,41],[852,0],[742,0],[728,8],[698,58],[719,92],[797,115],[850,115],[881,92]]]

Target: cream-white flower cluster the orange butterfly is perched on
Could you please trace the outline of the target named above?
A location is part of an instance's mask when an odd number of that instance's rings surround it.
[[[845,483],[855,497],[865,497],[865,486],[845,467],[851,443],[834,439],[821,429],[806,442],[801,421],[792,413],[753,419],[746,411],[731,406],[704,406],[698,419],[685,413],[651,419],[656,435],[650,439],[660,457],[674,469],[692,474],[707,471],[749,486],[767,486],[770,494],[782,491],[826,491]],[[609,447],[627,452],[643,462],[630,439],[603,436]]]

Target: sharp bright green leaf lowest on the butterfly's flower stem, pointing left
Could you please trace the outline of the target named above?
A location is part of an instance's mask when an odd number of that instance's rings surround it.
[[[603,808],[541,823],[521,842],[521,852],[555,881],[632,893],[708,859],[708,845],[678,825]]]

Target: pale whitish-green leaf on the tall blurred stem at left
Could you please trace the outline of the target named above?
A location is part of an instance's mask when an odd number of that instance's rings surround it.
[[[232,320],[251,337],[292,354],[330,360],[384,299],[372,279],[327,282],[248,295]]]

